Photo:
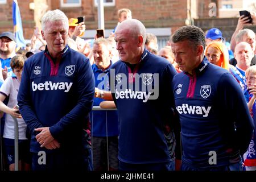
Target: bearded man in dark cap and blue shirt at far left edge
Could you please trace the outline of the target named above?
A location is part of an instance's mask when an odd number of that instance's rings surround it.
[[[0,60],[2,64],[0,80],[5,80],[8,76],[13,75],[10,63],[11,58],[16,55],[15,48],[16,38],[14,34],[11,32],[2,32],[2,34],[0,34]]]

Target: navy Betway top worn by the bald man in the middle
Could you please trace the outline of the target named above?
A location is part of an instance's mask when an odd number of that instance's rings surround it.
[[[134,66],[131,70],[130,65],[118,61],[110,69],[119,118],[118,159],[131,164],[170,162],[164,126],[177,122],[171,94],[177,72],[166,59],[146,49]]]

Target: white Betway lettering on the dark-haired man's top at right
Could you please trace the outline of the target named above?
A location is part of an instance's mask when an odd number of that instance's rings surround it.
[[[182,104],[181,106],[176,106],[177,111],[180,114],[198,114],[203,115],[203,117],[208,117],[211,106],[205,108],[204,106],[189,106],[188,104]]]

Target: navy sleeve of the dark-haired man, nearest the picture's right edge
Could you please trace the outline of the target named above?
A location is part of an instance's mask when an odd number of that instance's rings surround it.
[[[243,155],[249,146],[254,123],[242,89],[230,73],[224,73],[218,82],[217,93],[224,140]]]

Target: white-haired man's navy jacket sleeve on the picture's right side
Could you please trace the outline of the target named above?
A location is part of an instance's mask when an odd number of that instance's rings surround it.
[[[82,63],[82,64],[81,64]],[[70,127],[81,126],[81,118],[88,116],[93,107],[95,81],[89,59],[86,58],[79,63],[77,72],[77,94],[78,102],[75,107],[55,125],[49,127],[53,138],[60,139]]]

